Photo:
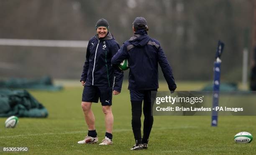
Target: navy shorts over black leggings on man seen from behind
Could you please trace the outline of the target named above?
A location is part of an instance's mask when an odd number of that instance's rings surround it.
[[[142,101],[151,102],[151,98],[155,100],[156,93],[151,95],[151,91],[157,90],[130,90],[131,101]]]

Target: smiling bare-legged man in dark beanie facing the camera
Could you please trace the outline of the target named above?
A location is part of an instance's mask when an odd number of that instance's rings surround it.
[[[112,93],[121,92],[123,72],[111,65],[111,58],[119,50],[118,42],[109,30],[108,21],[100,19],[96,23],[97,34],[89,40],[86,59],[80,82],[84,86],[82,93],[82,110],[88,127],[88,134],[79,144],[97,143],[95,117],[91,110],[92,102],[100,102],[105,115],[106,133],[100,145],[111,145],[113,114],[111,111]]]

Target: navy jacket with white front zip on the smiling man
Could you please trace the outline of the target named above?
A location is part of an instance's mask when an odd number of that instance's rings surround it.
[[[113,90],[121,92],[123,71],[111,65],[111,58],[119,48],[118,42],[110,32],[104,38],[98,38],[98,35],[92,37],[87,46],[80,81],[86,81],[87,86],[113,87]]]

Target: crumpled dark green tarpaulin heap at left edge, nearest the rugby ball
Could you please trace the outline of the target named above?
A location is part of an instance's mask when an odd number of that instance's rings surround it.
[[[46,108],[26,90],[0,89],[0,117],[47,117]]]

